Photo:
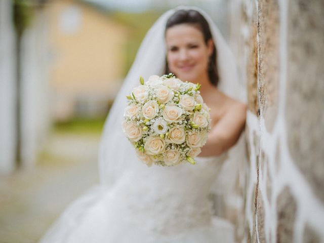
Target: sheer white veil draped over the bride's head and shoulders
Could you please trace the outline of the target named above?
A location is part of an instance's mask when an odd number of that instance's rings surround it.
[[[99,149],[100,178],[102,184],[106,186],[111,186],[128,168],[140,163],[135,156],[135,149],[121,129],[124,108],[127,105],[126,95],[132,88],[139,85],[140,75],[147,80],[150,75],[164,74],[166,60],[165,26],[169,17],[179,9],[194,9],[206,18],[217,50],[220,75],[218,89],[230,97],[242,100],[242,89],[239,87],[233,54],[211,18],[204,11],[195,7],[178,7],[166,12],[147,32],[106,120]],[[237,156],[235,157],[237,159]],[[235,168],[234,165],[227,167]]]

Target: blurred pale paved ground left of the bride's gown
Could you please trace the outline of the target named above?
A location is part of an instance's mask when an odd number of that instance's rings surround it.
[[[34,169],[0,177],[0,242],[37,242],[78,195],[98,183],[100,135],[54,134]]]

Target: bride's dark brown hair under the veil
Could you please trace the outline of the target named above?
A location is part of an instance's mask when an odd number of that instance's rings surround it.
[[[208,41],[210,39],[213,39],[211,30],[209,28],[209,24],[207,20],[204,18],[203,15],[201,15],[198,11],[192,10],[192,9],[182,9],[176,11],[173,15],[170,16],[170,18],[167,21],[166,24],[166,30],[168,28],[173,27],[178,24],[191,24],[197,27],[201,33],[204,35],[205,43],[207,45]],[[165,73],[170,73],[168,61],[166,59],[166,68]],[[213,45],[213,53],[209,58],[208,62],[208,75],[211,83],[215,86],[218,85],[218,69],[217,69],[217,63],[216,63],[216,47],[215,44]]]

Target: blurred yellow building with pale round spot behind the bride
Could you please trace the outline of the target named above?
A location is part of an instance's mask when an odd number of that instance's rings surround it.
[[[54,118],[105,115],[123,79],[127,28],[82,1],[52,1],[47,11]]]

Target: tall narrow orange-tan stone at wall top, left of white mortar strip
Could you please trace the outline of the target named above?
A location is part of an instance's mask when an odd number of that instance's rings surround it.
[[[271,132],[278,112],[279,7],[277,0],[260,0],[258,6],[259,102]]]

